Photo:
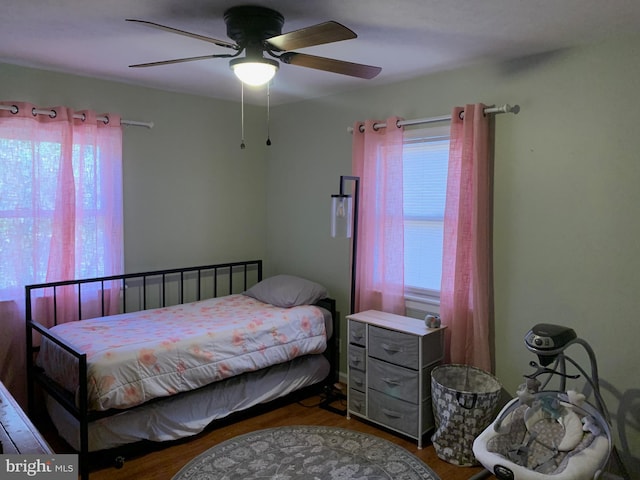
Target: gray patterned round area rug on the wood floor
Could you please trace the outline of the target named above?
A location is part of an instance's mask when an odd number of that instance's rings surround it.
[[[422,460],[382,438],[293,426],[232,438],[191,460],[173,480],[439,480]]]

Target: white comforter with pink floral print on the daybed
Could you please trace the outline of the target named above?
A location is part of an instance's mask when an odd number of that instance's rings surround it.
[[[245,295],[58,325],[87,353],[89,408],[127,408],[326,348],[322,310]],[[38,364],[69,391],[77,362],[43,339]]]

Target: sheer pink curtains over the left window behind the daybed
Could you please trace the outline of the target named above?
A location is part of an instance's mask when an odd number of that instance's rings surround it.
[[[90,111],[34,115],[34,105],[0,103],[18,108],[0,110],[0,379],[24,404],[24,286],[123,271],[122,129],[117,115],[105,123]],[[77,316],[77,293],[63,292],[59,321]],[[118,296],[108,298],[115,311]]]

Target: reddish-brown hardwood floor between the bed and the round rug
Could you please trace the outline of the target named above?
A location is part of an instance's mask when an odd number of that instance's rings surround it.
[[[91,480],[163,480],[171,479],[189,460],[213,445],[254,430],[283,425],[330,425],[348,428],[385,438],[409,450],[435,471],[442,480],[467,480],[482,469],[477,467],[457,467],[440,460],[431,444],[425,439],[426,446],[418,450],[411,439],[399,437],[381,430],[359,419],[347,418],[318,406],[319,396],[310,396],[297,402],[271,409],[250,418],[234,419],[223,422],[215,428],[195,437],[169,445],[154,446],[153,449],[140,449],[137,454],[131,452],[125,456],[124,466],[116,469],[112,465],[114,455],[92,459]],[[334,404],[339,408],[341,402]],[[61,443],[55,433],[43,431],[45,437],[57,453],[69,452],[69,447]],[[494,478],[494,477],[492,477]]]

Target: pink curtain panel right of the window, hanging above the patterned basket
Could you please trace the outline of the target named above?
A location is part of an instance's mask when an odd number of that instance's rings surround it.
[[[493,166],[484,108],[456,107],[451,116],[440,315],[447,361],[493,371]]]

